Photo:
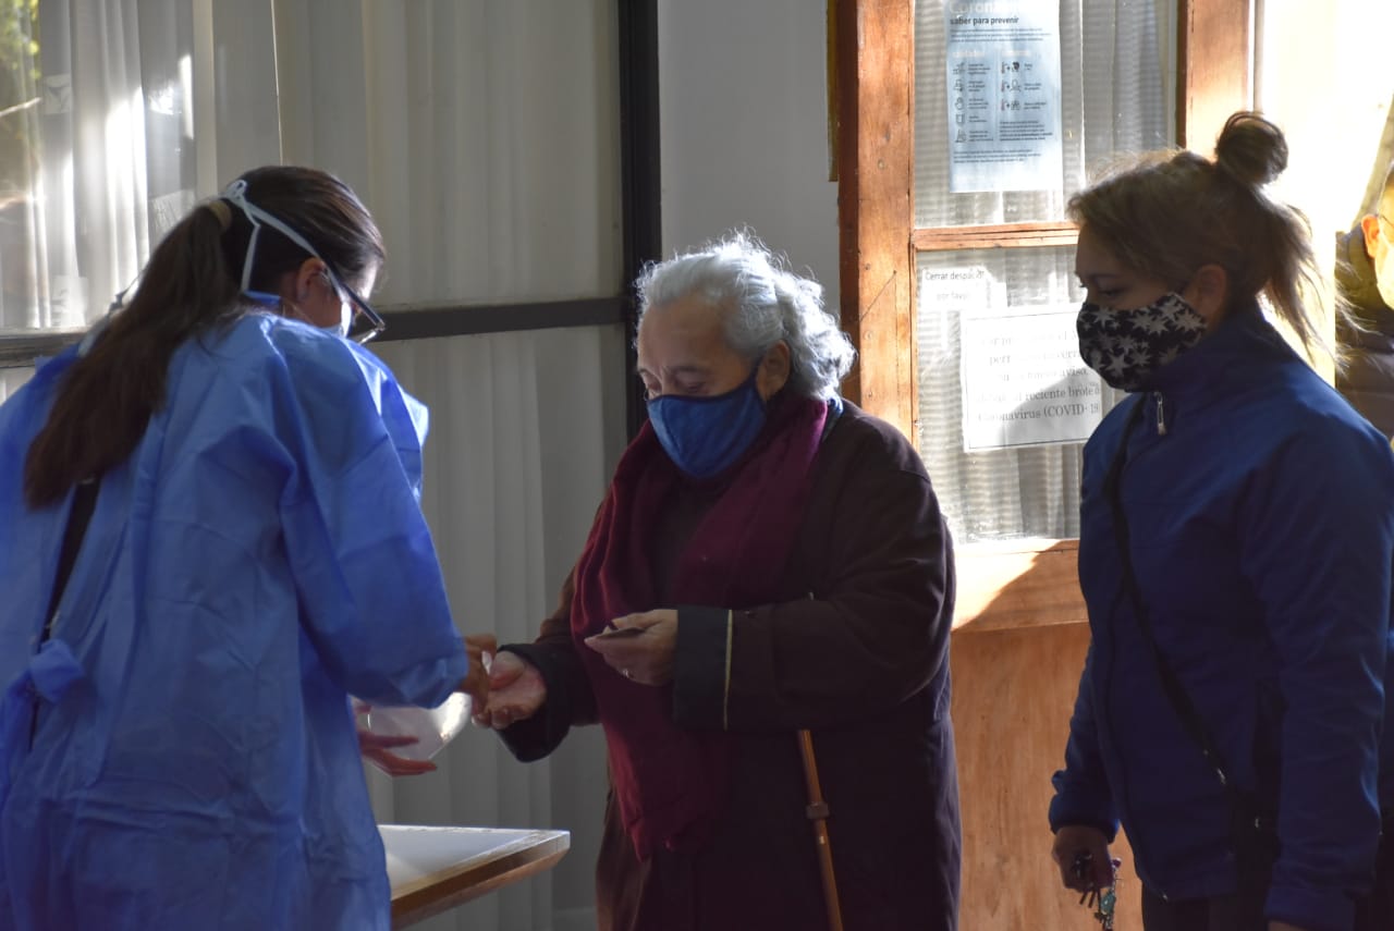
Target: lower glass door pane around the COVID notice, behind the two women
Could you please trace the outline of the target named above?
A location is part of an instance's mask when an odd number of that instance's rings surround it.
[[[1008,316],[1033,308],[1078,307],[1083,293],[1075,279],[1075,249],[1012,248],[924,252],[919,256],[920,418],[916,445],[934,481],[953,537],[959,542],[1012,537],[1079,535],[1079,467],[1082,442],[1046,443],[965,452],[963,318],[965,311],[937,300],[942,288],[927,282],[973,280],[990,295],[991,314]],[[1061,314],[1055,334],[1073,343],[1073,316]],[[1078,360],[1065,360],[1071,364]],[[1082,362],[1079,362],[1082,365]],[[1101,415],[1122,393],[1103,386]]]

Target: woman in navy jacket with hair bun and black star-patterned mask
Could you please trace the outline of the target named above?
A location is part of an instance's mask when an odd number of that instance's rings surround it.
[[[1239,113],[1213,162],[1150,156],[1071,201],[1080,354],[1132,393],[1085,447],[1093,638],[1050,820],[1076,891],[1111,884],[1122,824],[1147,931],[1394,918],[1370,893],[1394,454],[1266,319],[1323,344],[1306,226],[1262,191],[1285,163]]]

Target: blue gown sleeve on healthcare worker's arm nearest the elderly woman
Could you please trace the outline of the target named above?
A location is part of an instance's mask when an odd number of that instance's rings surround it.
[[[434,707],[468,672],[421,513],[425,408],[342,340],[282,330],[296,452],[282,498],[309,640],[330,676],[369,702]]]

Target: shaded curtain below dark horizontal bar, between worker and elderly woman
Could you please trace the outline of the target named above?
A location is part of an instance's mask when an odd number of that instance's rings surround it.
[[[378,347],[431,407],[422,506],[456,623],[528,641],[580,553],[623,442],[623,332],[580,328]],[[574,732],[523,765],[466,729],[441,769],[390,780],[369,768],[378,818],[397,824],[563,828],[551,872],[424,924],[427,931],[594,928],[591,872],[605,796],[604,739]]]

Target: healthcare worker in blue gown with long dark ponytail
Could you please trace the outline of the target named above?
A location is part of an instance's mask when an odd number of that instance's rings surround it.
[[[340,181],[250,171],[0,407],[0,928],[389,927],[348,695],[482,700],[492,644],[425,410],[344,339],[383,255]]]

